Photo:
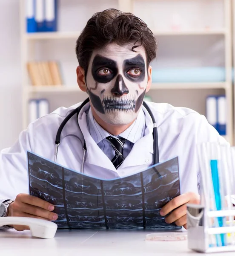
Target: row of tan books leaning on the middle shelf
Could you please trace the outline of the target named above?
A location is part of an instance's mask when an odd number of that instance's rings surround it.
[[[59,64],[56,61],[29,61],[27,70],[34,86],[62,85]]]

